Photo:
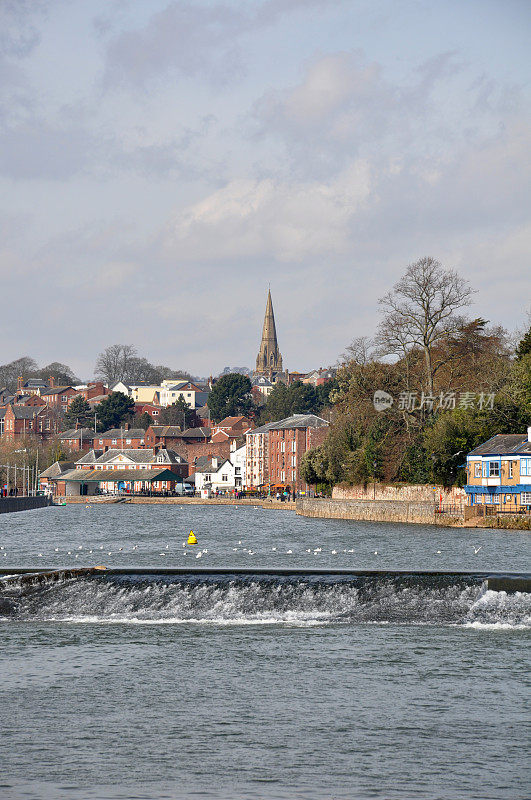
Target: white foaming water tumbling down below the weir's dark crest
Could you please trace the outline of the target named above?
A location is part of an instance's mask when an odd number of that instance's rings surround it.
[[[13,587],[5,621],[108,624],[443,624],[531,627],[531,595],[485,585],[378,580],[65,580]]]

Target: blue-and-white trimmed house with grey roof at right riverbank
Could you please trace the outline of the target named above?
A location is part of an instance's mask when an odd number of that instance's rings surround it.
[[[500,511],[531,510],[531,426],[527,434],[498,434],[467,456],[467,493],[471,506]]]

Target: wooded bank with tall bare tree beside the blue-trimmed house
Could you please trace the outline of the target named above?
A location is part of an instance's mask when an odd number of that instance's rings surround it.
[[[463,315],[471,295],[433,259],[408,268],[382,298],[374,341],[355,340],[342,359],[328,438],[304,458],[308,482],[463,485],[471,449],[526,430],[531,330],[515,348],[503,328]]]

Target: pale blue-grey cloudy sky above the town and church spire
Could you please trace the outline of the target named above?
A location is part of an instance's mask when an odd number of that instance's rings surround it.
[[[0,0],[0,363],[332,365],[423,256],[531,305],[527,0]]]

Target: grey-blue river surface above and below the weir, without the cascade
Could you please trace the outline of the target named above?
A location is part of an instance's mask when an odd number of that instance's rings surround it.
[[[199,544],[183,547],[190,529]],[[529,571],[529,541],[259,508],[66,506],[1,515],[0,570]],[[11,601],[6,800],[530,796],[529,595],[453,579],[137,575]]]

